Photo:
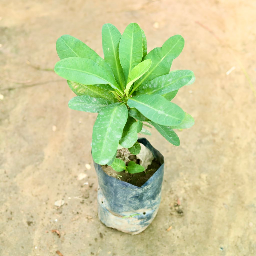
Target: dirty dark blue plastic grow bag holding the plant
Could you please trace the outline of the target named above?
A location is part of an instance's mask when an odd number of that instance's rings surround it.
[[[156,217],[164,176],[163,155],[145,138],[138,139],[138,142],[144,144],[161,163],[161,167],[141,187],[107,175],[94,162],[99,181],[99,218],[107,227],[130,234],[141,233]]]

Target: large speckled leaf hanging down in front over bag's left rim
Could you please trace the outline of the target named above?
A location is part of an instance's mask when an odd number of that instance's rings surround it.
[[[115,155],[127,118],[123,103],[110,104],[98,114],[92,133],[92,157],[97,164],[105,165]]]

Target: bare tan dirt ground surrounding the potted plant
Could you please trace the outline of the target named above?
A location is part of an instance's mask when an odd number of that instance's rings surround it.
[[[0,5],[1,256],[256,254],[256,98],[244,74],[255,87],[255,1]],[[156,131],[147,137],[165,157],[165,176],[158,215],[137,236],[98,220],[97,177],[86,168],[96,114],[69,109],[73,92],[47,71],[58,61],[61,35],[103,56],[102,25],[123,32],[130,22],[141,25],[150,50],[181,34],[185,49],[172,70],[196,75],[174,100],[196,120],[178,131],[181,145]]]

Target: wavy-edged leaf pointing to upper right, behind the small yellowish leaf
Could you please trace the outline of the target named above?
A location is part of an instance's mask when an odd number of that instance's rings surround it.
[[[144,60],[151,59],[152,65],[148,72],[146,72],[139,80],[137,80],[132,89],[139,90],[143,85],[156,77],[163,76],[170,72],[172,62],[182,52],[184,47],[184,38],[180,35],[170,37],[161,48],[155,48],[144,58]]]

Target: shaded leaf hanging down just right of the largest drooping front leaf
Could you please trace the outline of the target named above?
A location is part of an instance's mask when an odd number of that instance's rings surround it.
[[[138,123],[136,120],[128,116],[127,123],[124,126],[123,135],[119,144],[124,148],[130,148],[138,140],[137,133]]]

